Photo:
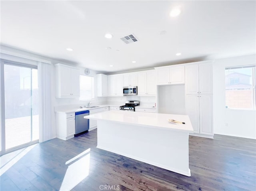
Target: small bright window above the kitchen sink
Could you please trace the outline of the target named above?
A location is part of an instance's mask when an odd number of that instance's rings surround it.
[[[94,77],[80,75],[80,100],[94,99]]]

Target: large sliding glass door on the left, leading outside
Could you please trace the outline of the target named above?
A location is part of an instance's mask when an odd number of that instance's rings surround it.
[[[38,141],[38,76],[36,66],[9,61],[1,61],[1,65],[4,70],[1,111],[4,110],[5,120],[1,139],[2,150],[8,151]]]

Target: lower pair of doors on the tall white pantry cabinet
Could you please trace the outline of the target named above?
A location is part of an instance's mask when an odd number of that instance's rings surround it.
[[[212,95],[186,95],[186,106],[194,133],[212,137]]]

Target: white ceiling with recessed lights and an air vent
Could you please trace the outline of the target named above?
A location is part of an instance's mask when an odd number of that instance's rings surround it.
[[[106,73],[253,54],[256,2],[1,1],[1,43]]]

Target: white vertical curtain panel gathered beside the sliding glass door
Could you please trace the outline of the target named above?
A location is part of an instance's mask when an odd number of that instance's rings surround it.
[[[52,139],[51,64],[38,62],[39,142]]]

